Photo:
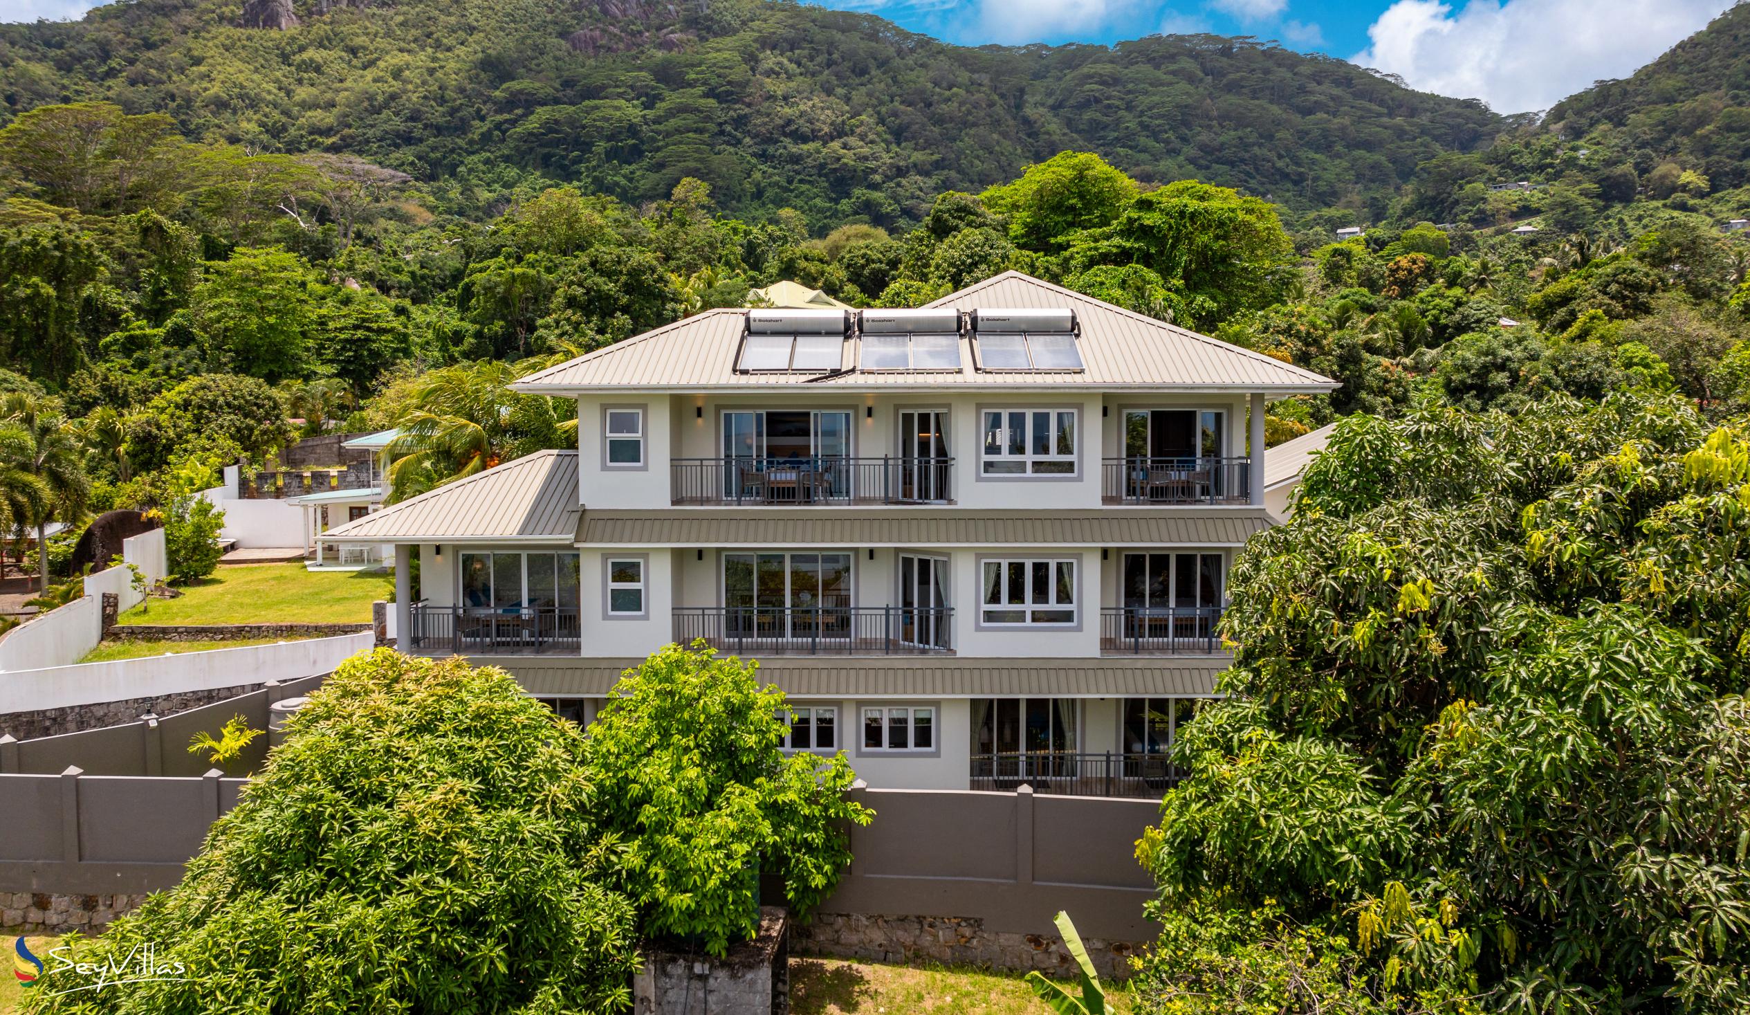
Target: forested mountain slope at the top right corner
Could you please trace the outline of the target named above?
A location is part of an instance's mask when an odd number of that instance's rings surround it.
[[[1544,126],[1608,144],[1642,172],[1671,159],[1715,189],[1750,184],[1750,5],[1720,14],[1634,75],[1563,100]]]

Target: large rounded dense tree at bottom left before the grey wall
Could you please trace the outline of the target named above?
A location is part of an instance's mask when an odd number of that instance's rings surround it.
[[[583,752],[502,670],[355,656],[182,884],[82,947],[150,942],[189,980],[56,994],[51,971],[32,1012],[616,1010],[634,912],[600,884]]]

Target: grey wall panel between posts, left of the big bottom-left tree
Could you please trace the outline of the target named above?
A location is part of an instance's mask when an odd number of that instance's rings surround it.
[[[88,775],[79,780],[80,859],[182,864],[217,816],[217,779]]]

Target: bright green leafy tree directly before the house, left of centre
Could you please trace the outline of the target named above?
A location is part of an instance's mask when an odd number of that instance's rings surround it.
[[[644,933],[721,956],[760,924],[760,875],[784,882],[805,915],[850,863],[844,754],[786,758],[784,693],[758,663],[667,646],[628,670],[584,746],[588,814],[616,838],[616,884]]]

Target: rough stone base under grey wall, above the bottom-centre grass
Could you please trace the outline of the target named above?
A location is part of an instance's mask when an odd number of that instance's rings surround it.
[[[1082,943],[1102,980],[1127,980],[1132,975],[1130,956],[1138,954],[1134,943],[1099,938],[1082,938]],[[984,920],[971,917],[816,914],[805,924],[789,926],[789,950],[793,956],[905,966],[940,962],[1013,973],[1040,970],[1064,980],[1076,975],[1076,961],[1059,936],[985,931]]]

